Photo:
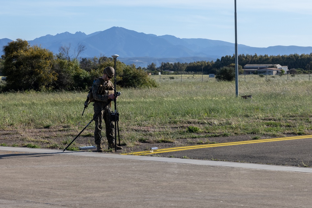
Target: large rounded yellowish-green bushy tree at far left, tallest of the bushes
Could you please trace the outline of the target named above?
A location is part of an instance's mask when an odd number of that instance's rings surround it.
[[[6,89],[39,91],[49,88],[56,80],[51,51],[39,46],[31,47],[27,41],[17,39],[4,46],[3,53]]]

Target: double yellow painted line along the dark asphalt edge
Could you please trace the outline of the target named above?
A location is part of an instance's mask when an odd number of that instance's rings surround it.
[[[125,155],[149,155],[149,154],[156,154],[156,153],[163,153],[163,152],[175,152],[175,151],[190,150],[190,149],[222,147],[222,146],[232,146],[232,145],[240,145],[240,144],[253,144],[253,143],[263,143],[263,142],[276,142],[276,141],[293,140],[293,139],[305,139],[305,138],[312,138],[312,135],[296,136],[296,137],[271,138],[271,139],[259,139],[259,140],[247,140],[247,141],[228,142],[228,143],[214,143],[214,144],[193,145],[193,146],[184,146],[184,147],[173,147],[173,148],[158,149],[158,150],[156,150],[154,152],[149,152],[149,151],[130,152],[130,153],[126,153]]]

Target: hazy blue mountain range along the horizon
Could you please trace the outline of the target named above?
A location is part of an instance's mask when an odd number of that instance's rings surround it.
[[[1,48],[12,40],[0,39]],[[78,44],[85,45],[86,50],[80,56],[88,57],[110,57],[118,54],[118,59],[126,64],[135,64],[137,67],[146,67],[154,62],[157,66],[161,62],[190,63],[194,61],[212,61],[222,56],[233,56],[235,44],[209,40],[202,38],[177,38],[172,35],[157,36],[128,30],[123,27],[111,27],[104,31],[98,31],[86,35],[83,32],[75,34],[64,32],[56,35],[46,35],[28,41],[29,44],[38,45],[59,53],[61,46],[77,48]],[[73,51],[73,50],[72,50]],[[302,46],[270,46],[267,48],[251,47],[238,44],[238,54],[250,55],[289,55],[310,54],[312,47]],[[0,51],[0,55],[3,52]]]

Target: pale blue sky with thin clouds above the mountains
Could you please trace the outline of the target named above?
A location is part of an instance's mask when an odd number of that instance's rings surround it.
[[[110,27],[235,42],[234,0],[1,0],[0,39]],[[312,46],[311,0],[237,0],[237,42]]]

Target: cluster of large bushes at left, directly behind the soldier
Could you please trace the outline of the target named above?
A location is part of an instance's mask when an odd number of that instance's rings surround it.
[[[0,72],[6,80],[0,82],[0,91],[88,90],[93,80],[103,75],[105,67],[115,65],[112,57],[105,56],[78,60],[79,53],[85,47],[78,45],[74,49],[74,57],[69,55],[70,47],[62,46],[60,53],[54,55],[47,49],[30,46],[22,39],[3,46]],[[116,68],[116,82],[120,87],[158,86],[154,79],[135,65],[117,60]]]

